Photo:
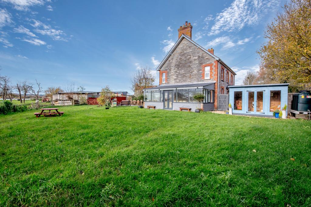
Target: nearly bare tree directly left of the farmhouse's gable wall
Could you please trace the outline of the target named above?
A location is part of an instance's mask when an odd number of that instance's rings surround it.
[[[141,67],[132,77],[132,90],[139,96],[142,90],[151,87],[155,82],[155,75],[150,67]]]

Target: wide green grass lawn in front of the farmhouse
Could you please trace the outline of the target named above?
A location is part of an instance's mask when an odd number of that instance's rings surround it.
[[[60,110],[0,116],[1,206],[311,206],[310,121]]]

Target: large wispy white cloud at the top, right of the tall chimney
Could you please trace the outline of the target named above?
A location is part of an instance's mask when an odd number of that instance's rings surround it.
[[[216,15],[209,35],[219,34],[220,31],[239,31],[244,26],[255,25],[279,3],[279,0],[234,0],[229,7]]]

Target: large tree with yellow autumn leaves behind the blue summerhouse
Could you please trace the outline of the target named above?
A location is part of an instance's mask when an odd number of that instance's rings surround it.
[[[267,26],[258,51],[274,81],[311,88],[311,0],[291,0]]]

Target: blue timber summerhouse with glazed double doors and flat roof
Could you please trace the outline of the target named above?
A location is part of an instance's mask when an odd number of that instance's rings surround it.
[[[273,117],[287,105],[289,83],[228,86],[232,114]]]

